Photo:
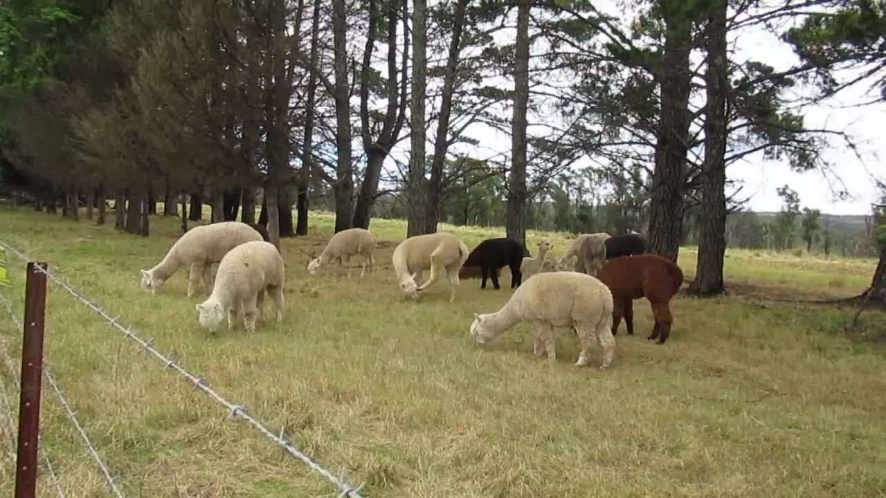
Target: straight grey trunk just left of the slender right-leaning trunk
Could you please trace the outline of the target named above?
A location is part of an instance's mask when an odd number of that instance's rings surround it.
[[[424,128],[424,102],[427,98],[427,4],[425,0],[414,0],[412,12],[412,94],[409,105],[409,124],[412,128],[411,152],[409,154],[408,178],[408,225],[407,237],[424,233],[427,228],[424,198],[424,143],[427,132]]]

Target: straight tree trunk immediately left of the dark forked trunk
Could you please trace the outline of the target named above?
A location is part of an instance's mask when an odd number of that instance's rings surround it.
[[[336,182],[332,185],[335,193],[335,231],[353,226],[351,210],[354,198],[354,172],[351,169],[351,89],[347,77],[347,10],[345,0],[332,2],[332,31],[335,51],[335,114],[336,114]]]

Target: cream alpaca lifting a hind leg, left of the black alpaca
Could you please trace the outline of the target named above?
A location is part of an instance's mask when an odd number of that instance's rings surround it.
[[[446,232],[430,233],[409,237],[393,250],[393,271],[400,283],[400,290],[406,295],[417,298],[418,292],[433,284],[446,275],[449,277],[449,302],[455,300],[455,288],[458,287],[458,270],[468,259],[468,246]],[[422,272],[431,269],[431,276],[421,285],[416,280]]]

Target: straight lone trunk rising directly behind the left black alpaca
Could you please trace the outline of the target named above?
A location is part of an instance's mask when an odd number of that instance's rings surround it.
[[[514,59],[514,118],[505,230],[526,246],[526,108],[529,105],[529,3],[517,7],[517,46]]]

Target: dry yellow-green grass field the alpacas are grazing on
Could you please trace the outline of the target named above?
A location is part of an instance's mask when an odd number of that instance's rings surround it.
[[[210,337],[194,310],[205,297],[185,297],[184,270],[155,296],[138,288],[138,269],[162,258],[177,224],[153,218],[144,238],[6,209],[0,239],[49,261],[330,471],[366,483],[363,496],[886,495],[886,314],[866,313],[847,336],[852,309],[781,301],[858,293],[874,261],[730,251],[734,292],[714,300],[681,293],[664,346],[646,340],[651,313],[638,302],[637,335],[623,325],[615,361],[600,371],[571,365],[578,347],[567,331],[555,367],[531,354],[525,324],[491,345],[472,343],[472,314],[510,295],[506,269],[501,291],[462,281],[450,304],[440,282],[421,300],[404,300],[390,264],[403,222],[373,221],[390,242],[377,252],[376,273],[310,277],[299,248],[322,248],[329,214],[312,214],[310,237],[284,240],[284,321],[260,323],[254,336],[240,327]],[[470,247],[502,233],[442,230]],[[556,245],[552,254],[569,240],[532,232],[533,254],[542,236]],[[693,248],[680,251],[688,278],[695,257]],[[10,270],[15,287],[0,292],[20,312],[24,265],[12,255]],[[18,358],[20,331],[6,315],[0,336]],[[338,496],[55,286],[45,354],[127,496]],[[42,416],[44,447],[68,495],[111,496],[48,387]],[[0,494],[12,494],[12,477],[4,460]],[[40,495],[55,495],[49,479]]]

